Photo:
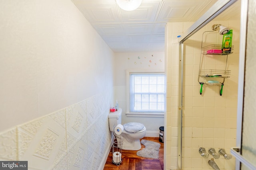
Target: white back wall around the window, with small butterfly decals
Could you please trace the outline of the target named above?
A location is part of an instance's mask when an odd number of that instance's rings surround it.
[[[153,56],[152,56],[153,55]],[[164,117],[127,117],[126,70],[163,70],[164,52],[115,53],[114,59],[114,102],[122,108],[122,123],[140,122],[147,129],[146,136],[159,137],[159,127],[164,126]]]

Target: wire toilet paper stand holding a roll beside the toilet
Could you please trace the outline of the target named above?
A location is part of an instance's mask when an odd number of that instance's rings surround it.
[[[123,139],[122,137],[116,137],[114,133],[113,138],[113,145],[112,145],[112,163],[116,164],[116,166],[119,166],[122,162],[122,144]]]

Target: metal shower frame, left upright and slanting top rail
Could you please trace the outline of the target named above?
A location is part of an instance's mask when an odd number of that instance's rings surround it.
[[[216,16],[234,4],[237,0],[218,0],[202,17],[200,17],[181,37],[179,41],[179,96],[178,96],[178,170],[182,170],[182,96],[183,96],[183,57],[184,41],[212,21]],[[242,20],[242,18],[241,18]],[[242,22],[242,21],[241,21]],[[242,122],[240,123],[242,124]],[[237,125],[238,128],[241,125]],[[240,165],[239,165],[240,167]]]

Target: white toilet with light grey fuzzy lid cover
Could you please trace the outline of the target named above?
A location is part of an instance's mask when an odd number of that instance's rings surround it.
[[[110,112],[108,115],[109,129],[114,132],[117,125],[121,124],[122,109],[118,111]],[[124,129],[120,135],[116,135],[117,140],[122,139],[122,147],[124,150],[140,150],[140,139],[146,135],[146,127],[142,123],[130,122],[123,125]]]

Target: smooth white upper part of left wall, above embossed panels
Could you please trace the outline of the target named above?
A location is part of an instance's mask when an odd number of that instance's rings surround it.
[[[0,130],[111,88],[113,52],[70,0],[0,6]]]

